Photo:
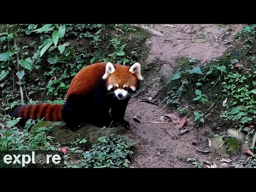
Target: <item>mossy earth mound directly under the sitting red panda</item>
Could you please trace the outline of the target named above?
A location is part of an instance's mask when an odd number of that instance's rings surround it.
[[[31,129],[31,132],[35,133],[36,130],[40,127],[48,128],[50,126],[52,126],[52,128],[48,132],[48,135],[54,137],[55,142],[59,142],[60,144],[64,144],[66,146],[68,146],[70,142],[74,142],[77,139],[86,139],[86,147],[90,147],[98,142],[99,137],[106,136],[106,134],[124,135],[127,132],[127,130],[122,126],[108,129],[98,128],[92,124],[86,124],[73,132],[65,126],[62,127],[57,125],[55,122],[50,121],[42,121],[35,124]]]

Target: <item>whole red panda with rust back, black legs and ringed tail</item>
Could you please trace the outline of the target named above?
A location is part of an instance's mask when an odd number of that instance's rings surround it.
[[[140,64],[131,67],[108,63],[95,63],[82,68],[71,81],[64,104],[35,104],[19,106],[12,116],[44,118],[48,121],[64,121],[66,127],[75,131],[81,123],[98,127],[121,124],[127,130],[130,124],[124,120],[126,106],[131,94],[143,80]],[[109,110],[111,109],[111,116]]]

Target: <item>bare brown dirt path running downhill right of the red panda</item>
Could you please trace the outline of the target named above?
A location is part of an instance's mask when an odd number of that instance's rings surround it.
[[[234,34],[242,28],[242,25],[221,25],[217,24],[173,24],[176,27],[153,26],[166,37],[152,36],[147,40],[150,53],[146,63],[157,62],[160,66],[159,76],[168,78],[175,67],[176,59],[182,57],[196,58],[200,64],[205,65],[209,60],[223,54],[234,38]],[[231,29],[231,30],[228,30]],[[192,43],[192,38],[204,36],[205,43]],[[231,41],[231,42],[230,42]],[[227,43],[230,42],[230,43]],[[148,87],[146,96],[154,95],[160,88],[160,83]],[[152,124],[149,121],[157,121],[163,114],[168,114],[168,108],[145,102],[139,102],[138,98],[132,98],[126,110],[126,119],[136,126],[128,136],[138,144],[138,152],[134,157],[132,166],[137,168],[183,168],[194,167],[187,162],[189,157],[198,160],[215,162],[218,166],[221,163],[220,157],[202,146],[199,138],[202,134],[193,129],[179,136],[178,124]],[[136,115],[141,123],[135,122]],[[167,118],[165,122],[167,122]],[[168,131],[168,132],[167,132]],[[196,149],[210,150],[209,155],[202,155]]]

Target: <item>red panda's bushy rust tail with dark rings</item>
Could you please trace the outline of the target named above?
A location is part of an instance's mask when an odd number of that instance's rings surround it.
[[[46,121],[62,121],[62,105],[58,104],[35,104],[23,105],[14,109],[12,116],[21,117],[23,121],[28,119],[44,118]]]

